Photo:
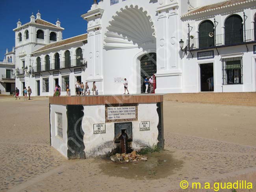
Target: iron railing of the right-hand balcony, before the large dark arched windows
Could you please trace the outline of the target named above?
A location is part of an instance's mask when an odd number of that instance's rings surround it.
[[[256,42],[256,31],[234,31],[232,33],[224,33],[219,35],[212,35],[212,37],[199,37],[187,40],[188,50],[209,49],[215,47],[233,46],[239,44],[246,44],[249,42]]]

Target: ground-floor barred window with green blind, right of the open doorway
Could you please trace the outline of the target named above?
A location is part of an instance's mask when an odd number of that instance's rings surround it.
[[[222,59],[223,85],[243,83],[243,62],[242,57]]]

